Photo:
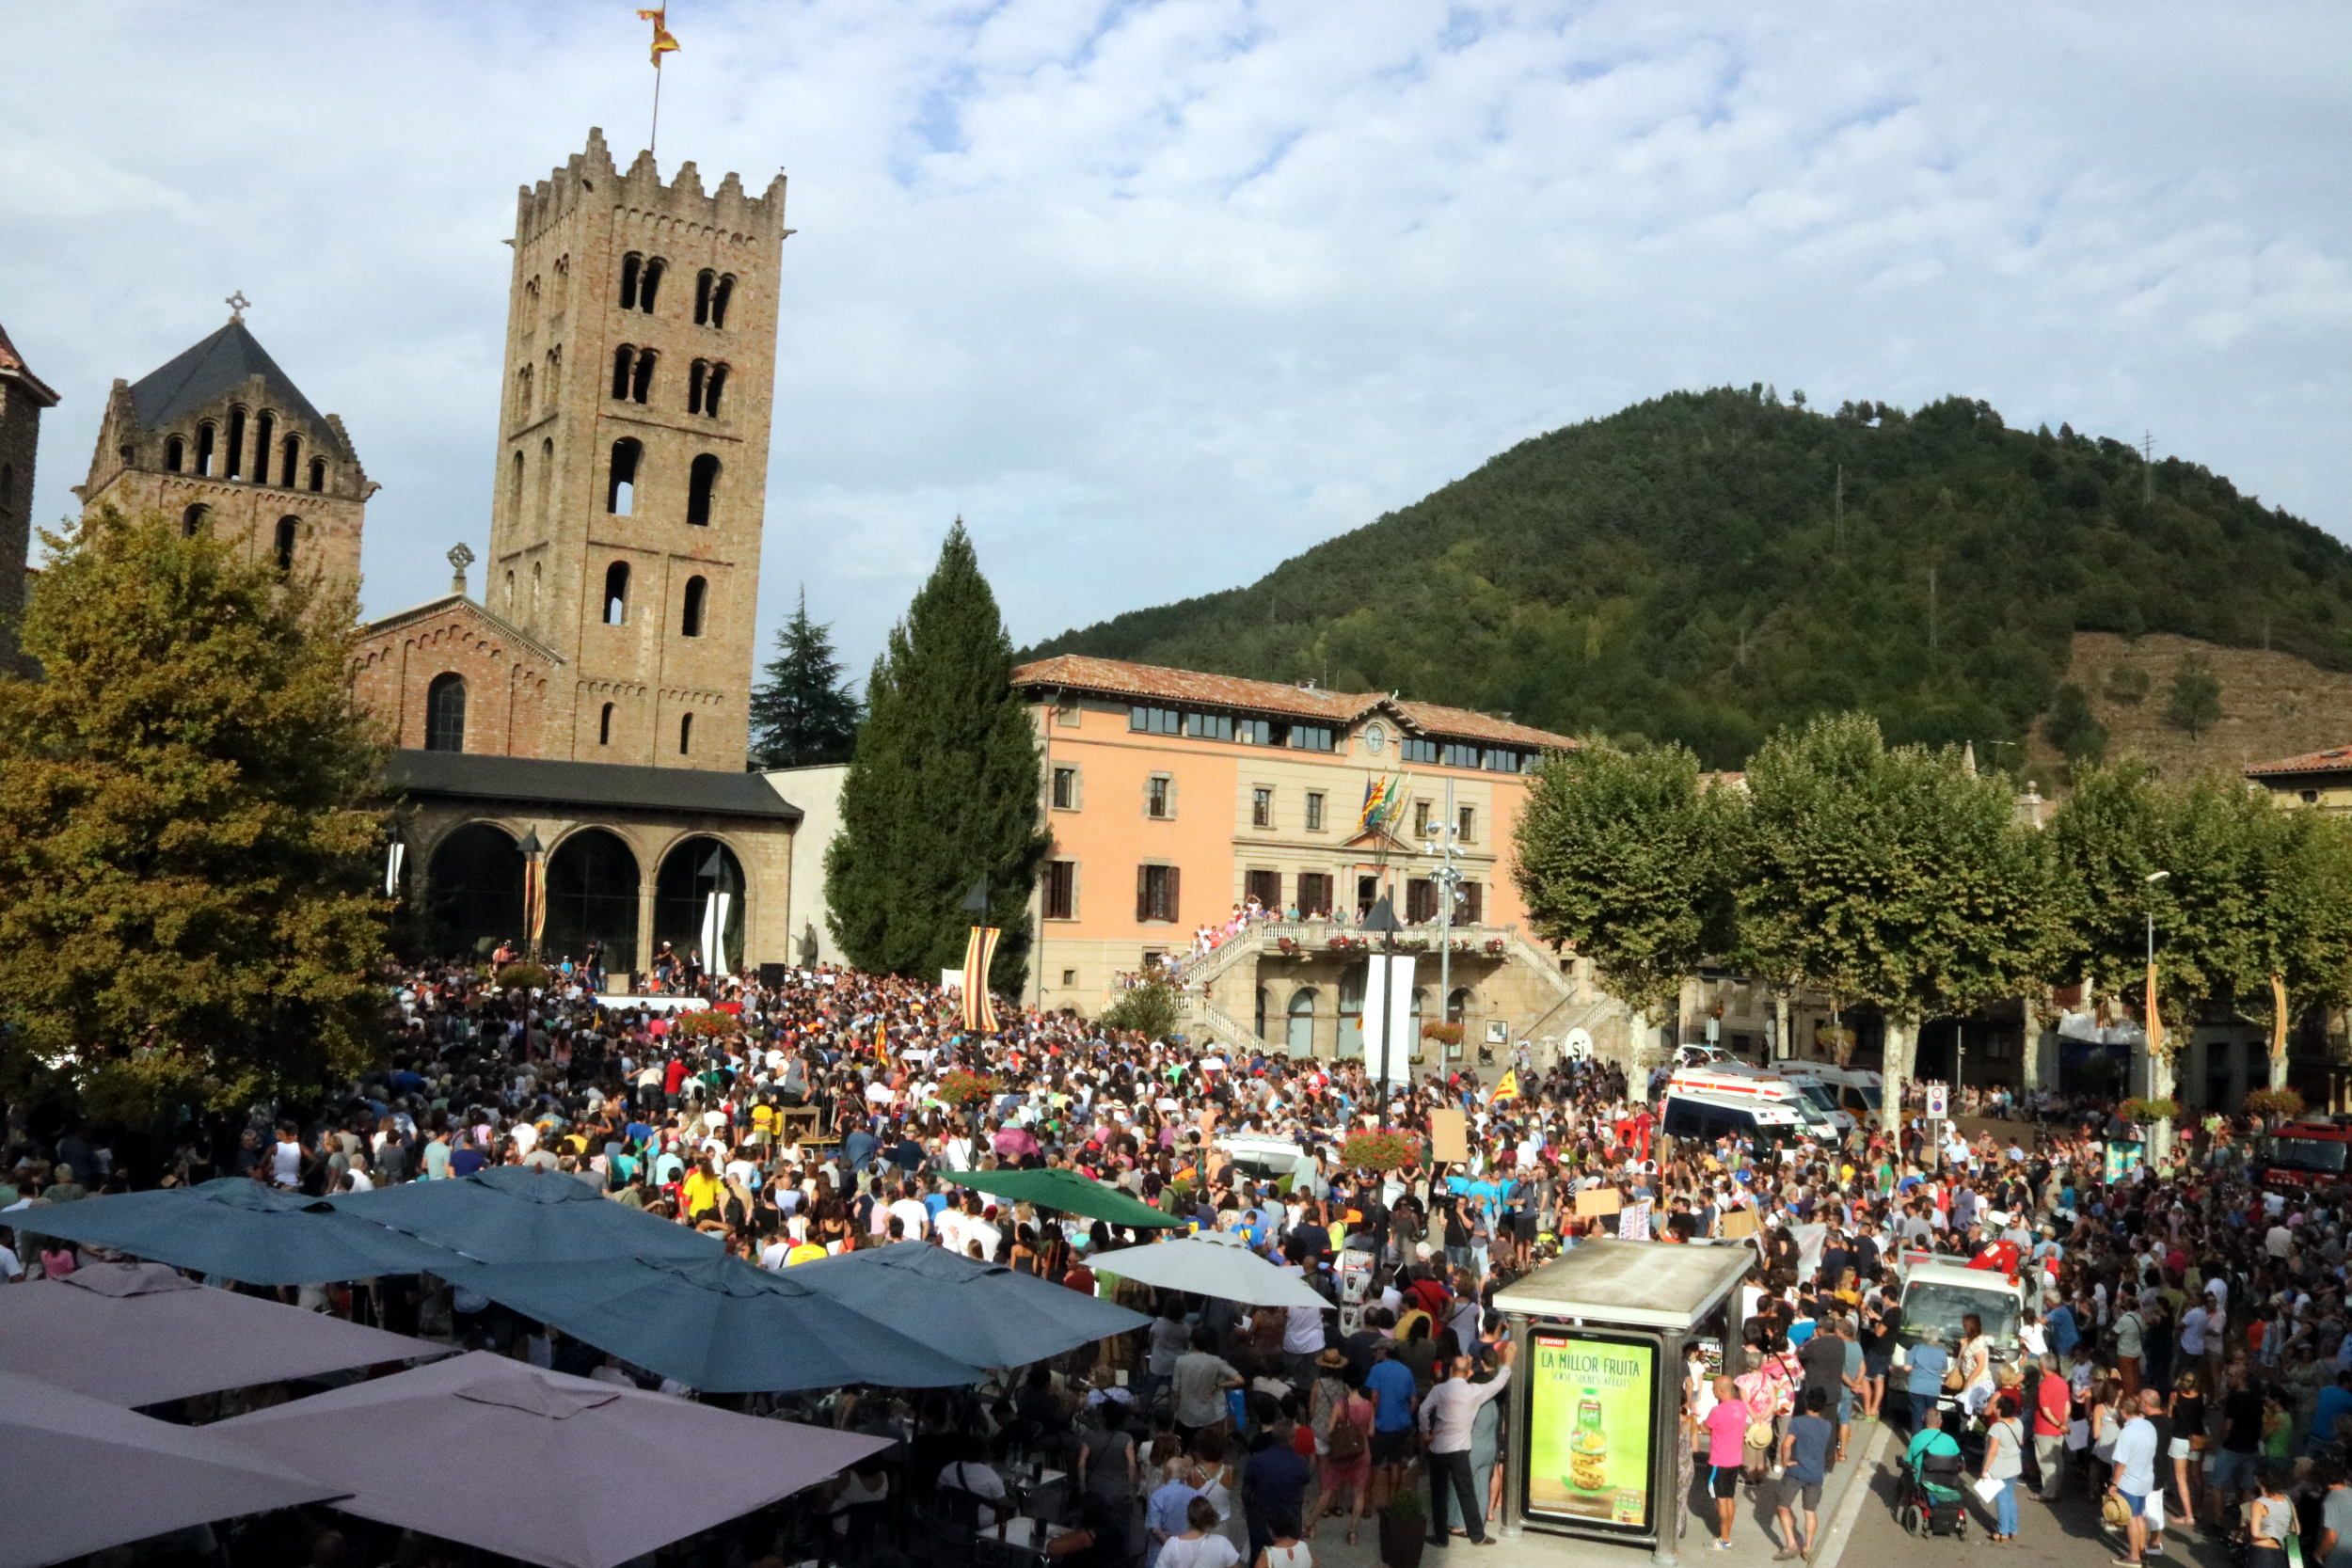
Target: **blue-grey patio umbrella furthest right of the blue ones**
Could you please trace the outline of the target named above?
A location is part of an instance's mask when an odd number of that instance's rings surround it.
[[[786,1279],[978,1366],[1028,1366],[1150,1324],[1141,1312],[927,1241],[818,1258]]]

